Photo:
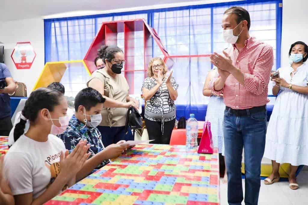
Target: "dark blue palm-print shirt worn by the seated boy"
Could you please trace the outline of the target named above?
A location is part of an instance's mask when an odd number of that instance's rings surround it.
[[[90,144],[90,158],[103,150],[103,146],[99,142],[99,138],[101,139],[102,137],[99,130],[96,127],[85,127],[85,125],[80,122],[75,115],[70,119],[66,130],[58,135],[58,137],[62,139],[65,148],[69,151],[73,150],[81,139],[86,139],[87,143]],[[108,160],[105,160],[96,168],[99,169],[105,166],[108,162]]]

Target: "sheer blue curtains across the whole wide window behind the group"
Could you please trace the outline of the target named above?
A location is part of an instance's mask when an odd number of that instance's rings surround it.
[[[229,45],[222,39],[221,19],[230,6],[242,6],[251,18],[250,34],[274,48],[274,66],[280,66],[281,0],[246,0],[217,4],[185,6],[118,14],[102,14],[86,17],[71,17],[45,20],[45,61],[83,59],[102,22],[144,18],[158,33],[170,55],[199,55],[221,52]],[[140,35],[140,36],[139,36]],[[135,65],[130,70],[142,70],[144,62],[137,59],[144,55],[143,33],[136,33]],[[139,36],[139,37],[138,37]],[[118,34],[118,46],[124,48],[123,33]],[[153,56],[163,57],[153,41]],[[195,113],[198,120],[204,120],[208,97],[202,95],[205,78],[213,68],[206,57],[169,58],[167,65],[174,69],[173,76],[179,83],[176,100],[177,118]],[[132,71],[135,94],[140,93],[144,71]],[[69,68],[61,82],[66,86],[67,95],[75,94],[85,87],[88,77],[83,68]],[[74,79],[74,80],[73,80]],[[74,83],[74,84],[73,84]],[[131,85],[131,84],[130,84]],[[131,87],[132,87],[131,86]],[[272,94],[269,87],[269,95]],[[271,104],[275,98],[270,97]]]

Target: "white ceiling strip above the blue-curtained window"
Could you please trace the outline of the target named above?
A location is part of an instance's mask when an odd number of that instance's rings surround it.
[[[145,0],[116,0],[114,2],[106,0],[0,0],[0,2],[0,21],[99,14],[105,13],[106,10],[132,7],[143,7],[135,10],[153,8],[153,2]],[[191,5],[209,3],[213,2],[213,0],[200,2],[192,2],[191,0],[156,0],[154,4],[172,4],[167,6],[171,7],[178,2],[184,2],[184,4],[186,2],[186,5]],[[214,2],[220,2],[220,0]],[[57,16],[48,17],[48,15],[54,14],[57,14]]]

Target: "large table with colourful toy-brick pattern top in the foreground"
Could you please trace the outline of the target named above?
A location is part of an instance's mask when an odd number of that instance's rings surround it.
[[[219,160],[183,145],[136,145],[46,203],[219,205]]]

